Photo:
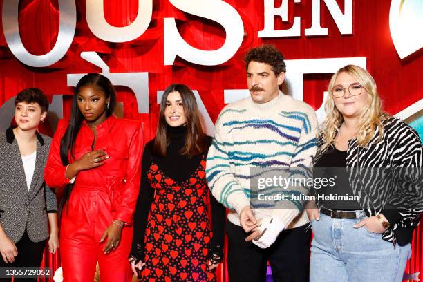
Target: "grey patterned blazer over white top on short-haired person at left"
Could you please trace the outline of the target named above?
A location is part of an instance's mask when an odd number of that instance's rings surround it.
[[[15,243],[22,238],[25,229],[32,242],[48,238],[47,212],[57,212],[55,192],[44,182],[51,138],[38,132],[36,135],[35,171],[28,191],[12,127],[6,133],[0,131],[0,224]]]

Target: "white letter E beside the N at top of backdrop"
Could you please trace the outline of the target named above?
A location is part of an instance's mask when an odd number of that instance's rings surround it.
[[[300,3],[301,0],[295,0]],[[265,24],[259,31],[259,37],[295,37],[301,35],[301,17],[294,17],[294,24],[288,30],[274,30],[274,16],[279,16],[282,21],[288,22],[288,0],[282,0],[279,8],[274,8],[274,0],[264,0]]]

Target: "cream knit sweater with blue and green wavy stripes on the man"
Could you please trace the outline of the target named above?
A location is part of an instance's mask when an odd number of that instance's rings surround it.
[[[308,104],[279,95],[264,104],[251,97],[225,106],[207,156],[206,176],[214,197],[240,225],[250,205],[250,168],[310,167],[317,149],[317,117]],[[303,203],[284,209],[254,209],[257,219],[276,216],[288,228],[308,223]]]

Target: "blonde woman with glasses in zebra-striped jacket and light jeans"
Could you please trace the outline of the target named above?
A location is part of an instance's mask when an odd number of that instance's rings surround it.
[[[422,142],[411,127],[382,112],[375,81],[363,68],[339,69],[328,92],[314,170],[337,176],[333,187],[318,193],[358,195],[359,200],[318,200],[319,209],[308,209],[314,232],[310,281],[402,281],[421,209],[407,208],[406,201],[395,207],[380,204],[393,196],[377,184],[395,182],[395,173],[363,176],[370,167],[422,167]],[[348,178],[353,168],[359,178]],[[404,181],[395,183],[401,189]]]

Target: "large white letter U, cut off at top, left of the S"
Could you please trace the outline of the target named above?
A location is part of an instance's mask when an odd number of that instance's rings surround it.
[[[127,42],[140,37],[149,27],[153,0],[138,0],[138,15],[129,26],[111,26],[104,17],[104,0],[86,0],[86,21],[93,34],[109,42]]]

